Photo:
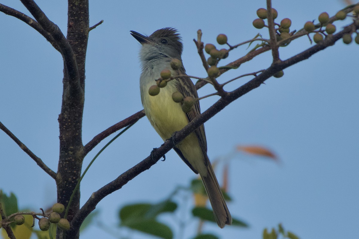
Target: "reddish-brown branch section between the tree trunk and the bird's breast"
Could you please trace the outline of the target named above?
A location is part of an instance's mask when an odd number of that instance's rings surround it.
[[[108,129],[99,133],[84,146],[84,155],[88,154],[94,147],[96,147],[97,144],[99,144],[103,139],[105,139],[109,135],[115,133],[117,130],[120,130],[132,124],[134,121],[141,119],[143,116],[145,116],[145,111],[140,110],[137,113],[131,115],[130,117],[127,117],[126,119],[112,125]]]

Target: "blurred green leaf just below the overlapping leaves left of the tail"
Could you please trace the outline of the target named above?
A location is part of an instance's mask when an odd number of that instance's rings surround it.
[[[164,239],[173,238],[171,228],[163,223],[159,223],[155,219],[137,221],[136,223],[127,225],[127,227],[150,235],[159,236]]]

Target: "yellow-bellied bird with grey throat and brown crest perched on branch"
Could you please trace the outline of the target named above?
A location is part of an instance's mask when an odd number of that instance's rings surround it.
[[[140,95],[145,114],[159,136],[166,141],[174,132],[181,130],[197,115],[201,114],[199,101],[196,100],[192,109],[185,113],[182,102],[174,102],[172,94],[180,92],[183,97],[191,96],[198,99],[197,90],[192,80],[186,75],[182,63],[183,44],[177,29],[162,28],[149,36],[130,31],[131,35],[141,43],[140,62]],[[182,66],[177,70],[171,67],[171,61],[178,59]],[[156,84],[162,70],[170,70],[173,77],[186,75],[168,81],[160,88],[158,95],[149,95],[149,88]],[[188,135],[173,148],[178,156],[194,171],[199,173],[215,220],[220,228],[232,224],[232,216],[224,200],[222,190],[207,155],[207,140],[204,125]]]

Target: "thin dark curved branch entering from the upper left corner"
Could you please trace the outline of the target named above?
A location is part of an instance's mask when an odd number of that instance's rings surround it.
[[[0,3],[0,11],[5,13],[6,15],[14,16],[17,19],[22,20],[24,23],[28,24],[33,29],[37,30],[38,33],[40,33],[43,37],[46,38],[48,42],[51,43],[53,48],[55,48],[57,51],[61,53],[59,46],[57,45],[53,37],[50,35],[50,33],[46,32],[35,19],[32,19],[28,15],[18,10],[15,10],[13,8],[10,8],[8,6],[5,6],[1,3]]]

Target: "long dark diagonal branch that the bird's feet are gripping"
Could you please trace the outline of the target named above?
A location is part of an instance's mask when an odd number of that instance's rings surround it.
[[[191,132],[193,132],[196,128],[198,128],[200,125],[204,124],[206,121],[208,121],[210,118],[212,118],[215,114],[217,114],[219,111],[224,109],[227,105],[229,105],[234,100],[238,99],[239,97],[243,96],[244,94],[250,92],[251,90],[259,87],[265,80],[267,80],[269,77],[274,75],[276,72],[283,70],[284,68],[287,68],[289,66],[292,66],[295,63],[298,63],[300,61],[303,61],[313,54],[334,45],[334,43],[339,40],[345,33],[351,32],[351,30],[354,28],[358,29],[358,26],[355,27],[354,24],[351,24],[344,28],[341,32],[333,35],[331,38],[326,38],[323,40],[323,42],[316,44],[316,46],[313,46],[306,51],[303,51],[285,61],[280,61],[277,63],[272,64],[267,70],[262,72],[259,76],[253,78],[251,81],[245,83],[238,89],[230,92],[227,96],[222,97],[219,99],[214,105],[209,107],[206,111],[204,111],[202,114],[197,116],[194,120],[192,120],[190,123],[188,123],[182,130],[176,132],[173,134],[171,139],[164,142],[161,147],[155,149],[153,152],[151,152],[150,156],[145,158],[140,163],[136,164],[134,167],[130,168],[126,172],[122,173],[119,177],[117,177],[112,182],[108,183],[107,185],[100,188],[98,191],[94,192],[91,197],[87,200],[87,202],[81,207],[78,214],[75,215],[73,218],[71,224],[72,227],[70,230],[78,230],[80,228],[81,223],[83,220],[87,217],[87,215],[90,214],[91,211],[93,211],[98,204],[99,201],[101,201],[105,196],[109,195],[110,193],[120,189],[123,185],[125,185],[127,182],[132,180],[132,178],[139,175],[141,172],[149,169],[152,165],[154,165],[165,153],[167,153],[169,150],[171,150],[174,147],[173,142],[180,142],[183,140],[187,135],[189,135]]]

